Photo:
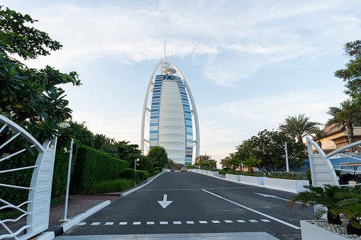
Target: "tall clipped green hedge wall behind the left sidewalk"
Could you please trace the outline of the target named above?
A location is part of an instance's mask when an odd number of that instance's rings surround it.
[[[90,147],[78,147],[70,192],[77,194],[91,188],[94,183],[115,180],[121,170],[128,167],[127,161],[113,158]]]

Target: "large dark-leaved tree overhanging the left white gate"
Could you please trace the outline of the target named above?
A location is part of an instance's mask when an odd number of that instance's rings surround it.
[[[52,40],[48,33],[28,26],[35,21],[27,14],[23,16],[0,6],[0,113],[22,127],[27,126],[43,142],[45,138],[66,134],[58,124],[72,113],[64,99],[65,91],[57,84],[79,86],[80,80],[76,72],[62,74],[50,66],[29,69],[10,56],[36,59],[39,55],[50,55],[49,50],[60,50],[60,42]]]

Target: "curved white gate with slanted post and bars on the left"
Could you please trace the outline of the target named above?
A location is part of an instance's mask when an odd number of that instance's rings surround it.
[[[13,132],[13,136],[6,140],[6,142],[1,143],[0,150],[5,149],[6,146],[9,146],[14,139],[23,138],[30,144],[30,147],[35,147],[38,150],[38,158],[36,159],[35,165],[25,166],[22,168],[12,168],[0,171],[0,187],[1,188],[17,188],[28,190],[28,200],[22,202],[20,205],[13,205],[11,200],[4,200],[0,196],[0,202],[2,207],[0,210],[12,208],[19,212],[19,217],[16,219],[0,219],[0,225],[6,230],[6,233],[1,233],[0,239],[29,239],[36,234],[43,232],[43,230],[48,229],[49,224],[49,213],[50,213],[50,197],[51,197],[51,187],[52,187],[52,172],[54,168],[54,159],[55,159],[55,148],[57,139],[50,142],[50,140],[45,140],[43,145],[41,145],[34,137],[32,137],[26,130],[23,130],[22,127],[17,125],[15,122],[12,122],[8,118],[5,118],[3,115],[0,115],[0,134],[4,130],[9,130]],[[0,166],[9,161],[16,161],[16,156],[25,152],[26,149],[21,149],[17,152],[4,156],[0,159]],[[4,152],[4,151],[3,151]],[[3,165],[4,166],[4,165]],[[16,172],[21,175],[22,170],[33,169],[33,175],[31,177],[30,185],[9,185],[1,183],[1,174]],[[4,198],[4,196],[2,196]],[[6,196],[5,196],[6,197]],[[23,210],[21,207],[27,206],[26,210]],[[22,227],[16,227],[19,224],[13,224],[14,222],[19,222],[26,217],[26,224]],[[11,224],[11,226],[9,225]],[[15,228],[15,229],[14,229]],[[4,230],[2,231],[4,232]]]

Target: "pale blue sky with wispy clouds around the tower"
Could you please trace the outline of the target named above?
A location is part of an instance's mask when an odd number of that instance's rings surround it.
[[[64,46],[28,67],[76,71],[65,86],[73,120],[140,144],[147,84],[167,44],[199,114],[201,154],[213,159],[287,116],[326,122],[347,96],[333,76],[361,39],[361,1],[19,1],[35,28]]]

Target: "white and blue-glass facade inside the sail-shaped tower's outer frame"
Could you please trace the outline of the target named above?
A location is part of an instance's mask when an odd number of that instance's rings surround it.
[[[150,148],[165,147],[168,158],[191,164],[193,131],[186,88],[178,76],[157,75],[152,89]]]

